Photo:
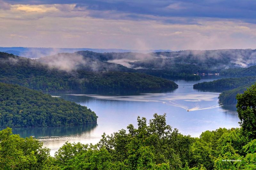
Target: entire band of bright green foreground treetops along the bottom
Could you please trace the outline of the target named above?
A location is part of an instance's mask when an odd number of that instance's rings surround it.
[[[1,169],[255,169],[256,139],[242,128],[205,131],[199,138],[184,136],[166,124],[164,115],[149,121],[138,117],[138,128],[127,126],[102,135],[96,145],[64,144],[54,157],[35,138],[20,138],[11,129],[0,131]]]

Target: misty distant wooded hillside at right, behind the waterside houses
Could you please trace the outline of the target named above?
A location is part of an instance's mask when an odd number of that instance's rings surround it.
[[[130,63],[133,68],[176,70],[184,73],[214,73],[227,68],[256,65],[256,50],[184,50],[177,52],[149,53],[153,59]]]

